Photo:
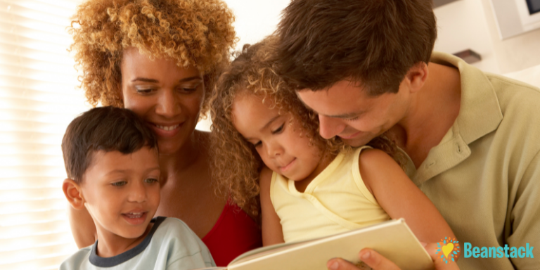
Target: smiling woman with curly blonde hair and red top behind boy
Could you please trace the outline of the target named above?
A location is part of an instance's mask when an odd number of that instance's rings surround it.
[[[195,131],[219,70],[229,63],[233,20],[221,0],[90,0],[69,28],[88,101],[129,108],[158,135],[156,215],[185,221],[218,266],[261,245],[257,205],[239,207],[216,192],[209,135]],[[86,210],[70,209],[70,224],[79,248],[94,243]]]

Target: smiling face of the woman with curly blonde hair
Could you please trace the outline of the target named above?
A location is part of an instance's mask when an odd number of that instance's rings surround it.
[[[203,74],[197,68],[179,68],[174,60],[150,60],[135,48],[124,51],[120,70],[124,107],[150,125],[160,154],[176,153],[198,122]]]

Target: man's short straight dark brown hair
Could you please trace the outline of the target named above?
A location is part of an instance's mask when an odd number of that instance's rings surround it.
[[[278,74],[294,89],[351,79],[378,96],[429,62],[437,28],[431,0],[293,0],[277,34]]]

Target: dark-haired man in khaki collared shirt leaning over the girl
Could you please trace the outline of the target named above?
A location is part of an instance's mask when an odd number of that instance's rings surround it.
[[[436,29],[427,0],[293,0],[276,32],[278,72],[319,114],[324,138],[396,141],[460,241],[461,269],[538,269],[540,89],[432,53]],[[466,243],[508,251],[470,255]]]

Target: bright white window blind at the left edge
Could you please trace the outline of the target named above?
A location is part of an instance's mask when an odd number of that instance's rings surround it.
[[[77,250],[60,143],[89,108],[67,49],[80,0],[0,0],[0,269],[58,269]]]

